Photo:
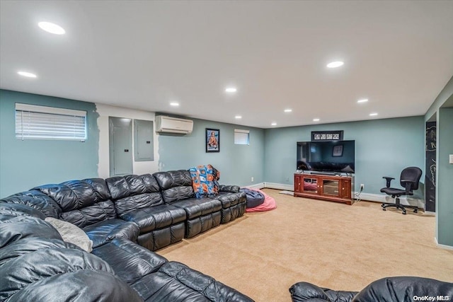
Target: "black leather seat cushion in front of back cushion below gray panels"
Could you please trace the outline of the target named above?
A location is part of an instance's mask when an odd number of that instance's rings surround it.
[[[134,223],[137,223],[141,234],[185,221],[185,217],[184,209],[168,204],[136,209],[120,216],[125,221],[134,221]]]

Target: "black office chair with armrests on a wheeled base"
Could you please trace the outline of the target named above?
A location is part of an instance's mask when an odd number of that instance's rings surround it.
[[[386,187],[383,187],[381,189],[381,192],[386,193],[391,195],[391,198],[395,198],[395,203],[386,203],[384,202],[381,204],[382,210],[385,211],[386,208],[388,207],[396,207],[396,209],[402,209],[403,214],[406,215],[406,209],[405,208],[411,208],[413,209],[414,213],[417,213],[418,208],[415,206],[406,206],[403,204],[399,203],[399,197],[401,195],[413,195],[413,190],[418,189],[418,182],[420,181],[420,177],[422,176],[422,170],[417,167],[408,167],[405,168],[404,170],[401,171],[401,177],[400,177],[400,184],[401,187],[404,187],[405,190],[401,189],[396,189],[394,187],[390,187],[390,182],[391,180],[394,180],[395,178],[389,178],[384,176],[383,178],[386,179]]]

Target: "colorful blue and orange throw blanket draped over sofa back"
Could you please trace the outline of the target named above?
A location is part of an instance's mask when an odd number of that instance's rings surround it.
[[[212,165],[198,165],[189,169],[195,197],[214,197],[219,192],[220,172]]]

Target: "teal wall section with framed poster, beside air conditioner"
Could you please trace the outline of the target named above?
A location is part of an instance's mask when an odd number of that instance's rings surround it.
[[[159,134],[159,170],[188,169],[211,164],[220,171],[220,183],[252,185],[264,181],[264,130],[234,124],[193,120],[188,135]],[[205,152],[205,128],[220,130],[220,152]],[[250,145],[234,144],[234,129],[250,131]],[[251,177],[254,181],[251,182]]]

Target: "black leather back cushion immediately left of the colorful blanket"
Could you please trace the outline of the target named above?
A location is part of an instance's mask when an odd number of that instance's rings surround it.
[[[174,170],[153,174],[161,187],[166,204],[194,197],[192,178],[188,170]]]

